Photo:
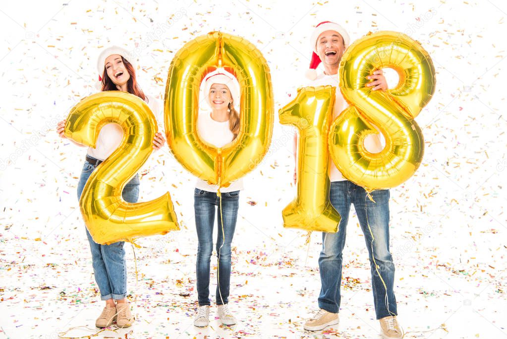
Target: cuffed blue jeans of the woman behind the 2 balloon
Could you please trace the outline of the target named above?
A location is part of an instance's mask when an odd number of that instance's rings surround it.
[[[85,161],[78,183],[78,199],[81,198],[88,178],[96,167]],[[122,197],[127,202],[137,202],[139,196],[139,175],[130,180],[123,188]],[[93,273],[100,290],[100,299],[123,299],[127,295],[127,263],[125,262],[124,242],[100,245],[93,241],[86,229],[92,252]]]

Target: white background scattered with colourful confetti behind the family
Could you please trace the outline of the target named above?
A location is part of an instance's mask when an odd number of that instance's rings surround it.
[[[170,191],[182,230],[138,241],[137,282],[126,245],[136,322],[99,336],[379,337],[368,254],[353,211],[341,324],[332,330],[311,333],[302,326],[317,308],[320,234],[312,233],[305,244],[306,232],[282,227],[281,210],[295,195],[294,131],[278,123],[277,111],[304,83],[308,37],[324,20],[341,23],[352,41],[369,31],[407,33],[421,42],[437,70],[437,90],[416,118],[425,138],[423,163],[413,178],[391,190],[395,294],[399,320],[410,332],[406,337],[507,337],[502,77],[507,5],[500,0],[271,3],[3,2],[0,338],[56,338],[75,326],[92,329],[74,329],[74,336],[95,332],[103,306],[76,194],[85,149],[59,139],[55,124],[96,91],[100,48],[136,48],[139,84],[162,100],[174,53],[212,30],[244,37],[262,51],[275,96],[271,151],[245,177],[233,241],[230,304],[239,324],[192,325],[195,178],[165,147],[142,168],[140,200]]]

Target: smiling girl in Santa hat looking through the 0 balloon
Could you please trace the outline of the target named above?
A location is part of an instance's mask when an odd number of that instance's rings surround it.
[[[211,112],[200,112],[197,119],[199,137],[217,148],[223,147],[234,139],[239,132],[239,114],[234,105],[239,104],[239,84],[234,76],[224,70],[209,73],[204,78],[206,101]],[[231,278],[231,242],[238,217],[239,190],[242,180],[236,180],[229,187],[222,187],[222,210],[216,185],[208,185],[198,180],[194,192],[195,225],[199,245],[197,248],[197,294],[199,309],[194,325],[199,327],[209,324],[209,264],[213,250],[213,225],[215,209],[218,208],[218,273],[216,287],[216,304],[218,315],[224,325],[234,325],[236,318],[230,313],[227,303]],[[222,215],[221,215],[222,214]],[[223,221],[223,224],[222,224]]]

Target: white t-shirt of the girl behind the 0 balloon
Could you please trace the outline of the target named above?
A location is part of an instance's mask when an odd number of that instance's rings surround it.
[[[210,111],[199,111],[199,115],[197,116],[197,133],[202,140],[216,148],[229,144],[234,138],[234,134],[229,128],[229,120],[223,122],[215,121],[211,118]],[[218,185],[210,185],[202,179],[197,179],[195,187],[208,192],[216,193],[218,191]],[[228,187],[222,187],[220,192],[226,193],[242,189],[243,179],[240,178],[231,182]]]

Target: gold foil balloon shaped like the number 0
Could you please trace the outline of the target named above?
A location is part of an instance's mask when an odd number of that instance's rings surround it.
[[[241,126],[232,143],[215,148],[199,138],[197,114],[201,81],[219,67],[239,82]],[[209,184],[227,187],[261,162],[271,142],[273,110],[268,64],[245,39],[210,32],[187,43],[171,61],[164,98],[167,144],[176,160]]]

